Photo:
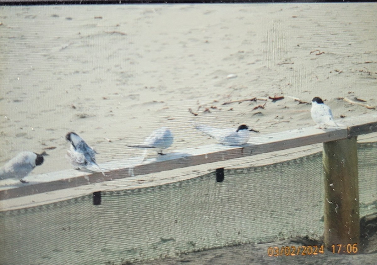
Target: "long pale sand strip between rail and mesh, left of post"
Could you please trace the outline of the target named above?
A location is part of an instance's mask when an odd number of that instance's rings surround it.
[[[377,137],[377,136],[376,136]],[[114,190],[140,189],[152,186],[165,185],[196,178],[214,172],[217,168],[245,168],[248,166],[265,166],[268,164],[281,163],[306,155],[322,151],[322,144],[300,146],[293,149],[274,151],[265,154],[243,157],[237,160],[224,160],[211,164],[201,164],[194,167],[179,168],[170,171],[155,172],[153,174],[121,178],[119,180],[105,181],[90,185],[83,185],[69,189],[54,190],[52,192],[43,192],[29,196],[11,198],[0,201],[0,212],[7,210],[22,209],[53,203],[57,201],[68,200],[83,195],[87,195],[98,190],[103,192]],[[152,158],[147,158],[152,159]]]

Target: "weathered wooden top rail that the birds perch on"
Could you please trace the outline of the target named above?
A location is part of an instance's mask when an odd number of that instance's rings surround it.
[[[346,139],[349,135],[349,129],[353,131],[357,130],[359,134],[362,132],[373,132],[374,129],[370,129],[370,124],[373,119],[377,120],[377,117],[369,115],[358,117],[357,119],[344,119],[344,122],[350,124],[348,128],[344,126],[317,129],[312,126],[254,136],[250,139],[248,144],[244,146],[205,145],[187,148],[172,151],[166,156],[158,156],[154,159],[144,161],[143,163],[140,163],[139,157],[111,161],[100,165],[101,167],[110,169],[111,172],[106,173],[106,176],[103,176],[101,173],[92,174],[78,172],[73,169],[28,176],[26,177],[26,180],[29,181],[28,184],[21,184],[15,180],[14,184],[11,186],[0,187],[0,200]],[[374,121],[374,123],[377,124],[376,121]],[[357,129],[358,127],[362,129]]]

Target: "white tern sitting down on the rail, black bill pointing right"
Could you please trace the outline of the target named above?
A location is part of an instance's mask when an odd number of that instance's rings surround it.
[[[250,131],[259,132],[253,129],[249,130],[249,127],[245,124],[238,126],[237,129],[216,129],[198,123],[191,124],[199,131],[204,132],[212,138],[215,138],[221,144],[229,146],[244,145],[250,139]]]

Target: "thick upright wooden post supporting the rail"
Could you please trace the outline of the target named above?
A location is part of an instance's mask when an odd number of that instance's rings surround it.
[[[356,137],[323,143],[323,172],[325,247],[333,253],[355,254],[360,243]]]

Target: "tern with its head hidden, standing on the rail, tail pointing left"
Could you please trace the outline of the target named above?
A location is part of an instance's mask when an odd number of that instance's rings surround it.
[[[166,127],[159,128],[153,131],[145,140],[142,145],[127,145],[132,148],[157,148],[157,154],[162,154],[162,150],[169,148],[173,144],[174,136],[170,129]],[[144,153],[145,155],[145,153]]]

